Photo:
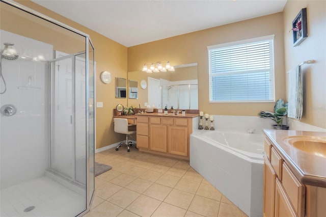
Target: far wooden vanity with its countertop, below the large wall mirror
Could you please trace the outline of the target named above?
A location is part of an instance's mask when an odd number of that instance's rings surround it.
[[[140,151],[189,159],[189,136],[198,114],[137,114],[137,147]]]

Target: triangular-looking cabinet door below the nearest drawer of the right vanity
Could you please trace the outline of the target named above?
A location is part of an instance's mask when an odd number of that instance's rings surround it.
[[[275,191],[275,217],[290,217],[297,216],[291,203],[284,191],[281,181],[276,179]]]

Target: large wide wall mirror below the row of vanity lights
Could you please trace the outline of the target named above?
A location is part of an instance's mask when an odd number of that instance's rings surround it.
[[[198,109],[198,67],[197,63],[174,66],[174,72],[143,71],[128,72],[129,80],[147,82],[147,88],[138,89],[138,100],[128,105],[140,104],[156,108]]]

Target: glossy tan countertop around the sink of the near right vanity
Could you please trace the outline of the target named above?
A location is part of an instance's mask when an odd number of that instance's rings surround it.
[[[307,153],[283,142],[284,138],[290,136],[326,138],[326,132],[264,129],[264,133],[294,170],[296,178],[303,184],[326,187],[326,156]]]

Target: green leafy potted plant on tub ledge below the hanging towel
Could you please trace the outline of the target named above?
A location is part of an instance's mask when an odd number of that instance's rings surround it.
[[[283,118],[287,115],[287,107],[288,103],[284,103],[283,99],[279,99],[275,103],[274,112],[261,111],[258,115],[261,118],[269,118],[275,121],[274,129],[289,129],[289,126],[282,125]]]

